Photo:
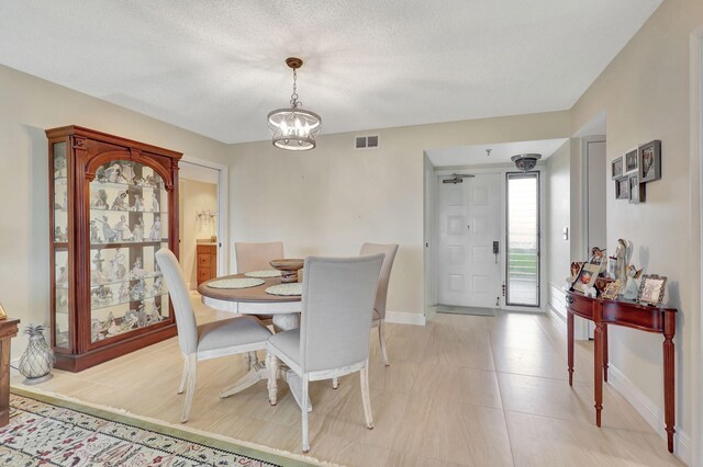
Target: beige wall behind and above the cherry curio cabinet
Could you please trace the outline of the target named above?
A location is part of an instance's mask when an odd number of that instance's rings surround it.
[[[81,125],[226,163],[226,146],[0,66],[0,301],[21,327],[48,324],[48,162],[45,128]],[[13,358],[26,348],[12,343]]]

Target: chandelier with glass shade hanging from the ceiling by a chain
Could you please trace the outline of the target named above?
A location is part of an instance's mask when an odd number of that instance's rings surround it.
[[[322,118],[314,112],[300,109],[298,100],[298,68],[303,60],[295,57],[286,59],[286,65],[293,69],[293,93],[290,95],[289,109],[277,109],[269,112],[268,127],[274,135],[274,146],[290,151],[305,151],[315,147],[315,137],[322,127]]]

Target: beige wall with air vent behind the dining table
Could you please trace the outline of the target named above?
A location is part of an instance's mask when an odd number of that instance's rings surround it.
[[[324,135],[303,153],[270,141],[233,145],[231,240],[282,240],[287,257],[354,255],[365,241],[399,243],[388,309],[423,314],[423,150],[568,132],[568,113],[553,112],[373,130],[377,150],[355,150],[356,134]]]

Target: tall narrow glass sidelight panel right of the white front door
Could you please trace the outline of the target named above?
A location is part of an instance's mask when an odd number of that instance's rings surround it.
[[[507,174],[505,305],[539,306],[539,173]]]

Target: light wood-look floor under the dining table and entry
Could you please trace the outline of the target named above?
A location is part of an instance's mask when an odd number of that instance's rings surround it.
[[[226,314],[204,309],[199,322]],[[577,344],[566,381],[566,339],[544,316],[437,315],[426,327],[388,324],[391,366],[372,334],[375,430],[364,425],[357,376],[311,386],[311,455],[349,466],[680,465],[665,441],[605,385],[594,423],[592,350]],[[40,385],[80,400],[178,423],[181,356],[175,339]],[[284,384],[270,407],[266,383],[220,399],[244,372],[242,356],[199,364],[188,426],[300,453],[300,410]],[[21,378],[15,377],[14,384]]]

